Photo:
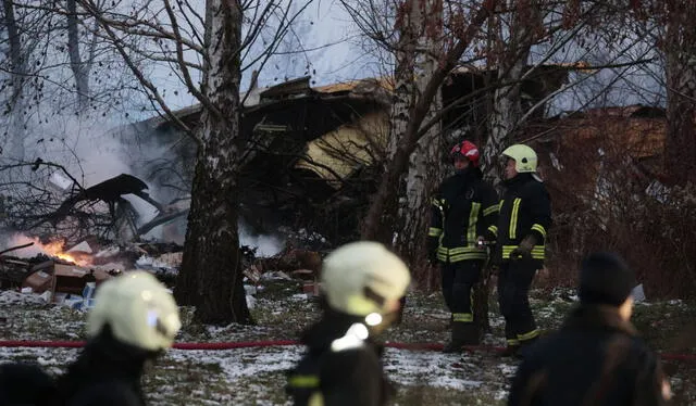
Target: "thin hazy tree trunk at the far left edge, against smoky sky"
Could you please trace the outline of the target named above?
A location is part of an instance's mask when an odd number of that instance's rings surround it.
[[[11,113],[9,115],[10,125],[7,130],[7,140],[10,144],[9,154],[11,158],[23,161],[25,155],[24,149],[24,84],[26,74],[26,61],[22,53],[22,45],[20,38],[20,29],[14,14],[14,2],[12,0],[3,0],[2,7],[4,11],[4,25],[8,30],[8,40],[10,42],[9,55],[12,76],[12,91],[9,101]]]

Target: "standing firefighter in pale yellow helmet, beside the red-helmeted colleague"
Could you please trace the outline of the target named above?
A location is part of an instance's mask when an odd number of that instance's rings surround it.
[[[498,225],[486,238],[496,239],[498,304],[505,317],[507,348],[504,356],[521,355],[521,346],[538,338],[529,291],[537,269],[544,266],[545,241],[551,226],[551,203],[536,174],[533,149],[514,144],[502,151],[506,188],[500,200]]]

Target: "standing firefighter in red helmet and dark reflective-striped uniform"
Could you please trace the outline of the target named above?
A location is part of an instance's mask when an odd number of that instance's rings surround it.
[[[498,195],[483,180],[478,149],[469,141],[450,152],[456,174],[445,179],[433,198],[428,259],[440,264],[445,303],[451,313],[451,339],[444,352],[478,344],[472,289],[488,257],[478,242],[498,217]]]

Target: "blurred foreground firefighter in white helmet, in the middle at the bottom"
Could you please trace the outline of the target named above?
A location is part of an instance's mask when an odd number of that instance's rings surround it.
[[[352,242],[324,259],[321,319],[301,337],[307,353],[288,372],[295,405],[386,404],[394,390],[374,335],[398,315],[411,277],[384,245]]]

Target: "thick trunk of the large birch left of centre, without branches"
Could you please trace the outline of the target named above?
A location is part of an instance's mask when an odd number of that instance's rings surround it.
[[[198,158],[175,297],[203,323],[250,322],[243,286],[237,218],[241,4],[206,3],[202,92],[211,103],[198,129]]]

